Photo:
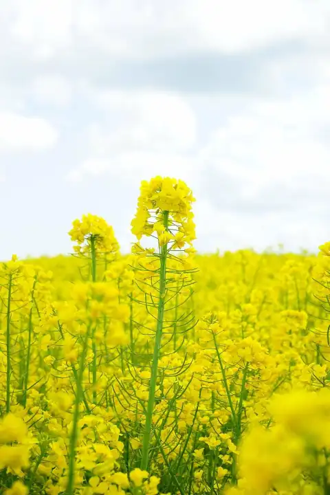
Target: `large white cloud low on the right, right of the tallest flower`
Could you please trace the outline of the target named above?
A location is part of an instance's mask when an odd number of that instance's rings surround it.
[[[288,250],[315,250],[329,237],[330,88],[324,83],[293,98],[247,98],[201,148],[199,248],[208,239],[230,250],[282,241]]]

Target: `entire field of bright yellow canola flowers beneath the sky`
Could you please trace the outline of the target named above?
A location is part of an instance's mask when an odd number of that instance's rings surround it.
[[[1,494],[330,494],[330,243],[199,255],[193,201],[1,264]]]

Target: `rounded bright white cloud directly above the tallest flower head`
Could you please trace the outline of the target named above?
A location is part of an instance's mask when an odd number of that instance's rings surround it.
[[[181,151],[195,144],[195,113],[183,96],[163,91],[100,91],[94,97],[103,110],[118,116],[111,135],[102,136],[98,126],[91,129],[98,147],[104,147],[102,137],[110,148],[125,150]]]

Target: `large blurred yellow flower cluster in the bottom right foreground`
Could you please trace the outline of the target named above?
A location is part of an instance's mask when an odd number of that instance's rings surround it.
[[[272,487],[296,483],[308,468],[315,468],[310,455],[330,445],[330,390],[292,391],[272,399],[272,428],[254,426],[240,451],[241,483],[246,495],[264,495]],[[325,465],[318,456],[318,465]],[[267,492],[268,493],[268,492]],[[316,492],[317,493],[317,492]]]

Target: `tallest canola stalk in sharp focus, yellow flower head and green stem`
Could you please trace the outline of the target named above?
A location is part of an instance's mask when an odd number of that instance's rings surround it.
[[[138,241],[142,239],[142,236],[151,236],[157,239],[159,247],[158,252],[155,252],[153,248],[143,248],[140,243],[136,243],[133,248],[138,259],[137,270],[141,270],[144,274],[145,285],[142,286],[144,287],[142,292],[145,293],[146,310],[148,312],[155,310],[156,322],[155,330],[153,330],[155,338],[142,439],[140,464],[142,470],[148,470],[149,465],[157,380],[159,379],[160,383],[164,379],[164,376],[159,377],[161,349],[173,337],[175,345],[177,341],[176,321],[174,325],[173,322],[168,325],[169,321],[164,323],[165,311],[173,309],[165,309],[166,303],[175,300],[175,319],[177,319],[178,298],[175,294],[178,294],[190,283],[188,258],[193,253],[191,242],[195,239],[195,224],[192,221],[191,211],[192,201],[194,201],[192,192],[182,181],[168,177],[155,177],[150,182],[142,181],[137,213],[132,221],[132,232],[137,236]],[[150,302],[147,302],[148,297]],[[170,340],[163,344],[164,328],[168,329],[168,326],[173,327],[173,335]],[[166,331],[166,333],[168,332]]]

